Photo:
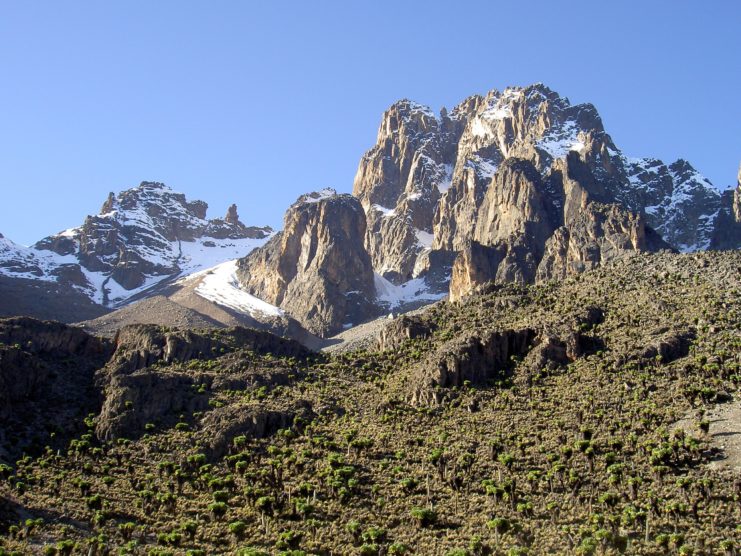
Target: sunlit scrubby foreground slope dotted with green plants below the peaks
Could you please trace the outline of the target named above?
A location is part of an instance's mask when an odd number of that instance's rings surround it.
[[[124,329],[81,435],[3,467],[0,553],[734,554],[704,416],[738,395],[740,277],[638,254],[335,356]]]

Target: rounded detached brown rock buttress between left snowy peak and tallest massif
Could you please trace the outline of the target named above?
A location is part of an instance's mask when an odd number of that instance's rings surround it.
[[[286,212],[284,229],[239,261],[242,287],[315,334],[339,332],[375,311],[365,232],[356,198],[331,189],[304,195]]]

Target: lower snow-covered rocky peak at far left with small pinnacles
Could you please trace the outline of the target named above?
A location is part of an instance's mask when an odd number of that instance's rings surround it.
[[[245,226],[234,205],[223,219],[207,220],[207,208],[162,183],[142,182],[110,193],[82,226],[31,248],[0,238],[0,274],[58,283],[113,307],[163,279],[244,255],[272,232]]]

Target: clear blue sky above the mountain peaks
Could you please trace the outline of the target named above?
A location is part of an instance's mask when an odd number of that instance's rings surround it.
[[[349,192],[383,111],[543,82],[629,156],[741,160],[741,2],[0,0],[0,232],[82,223],[163,181],[280,227]]]

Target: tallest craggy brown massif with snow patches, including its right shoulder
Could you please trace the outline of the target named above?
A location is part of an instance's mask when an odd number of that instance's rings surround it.
[[[430,252],[458,253],[453,297],[482,281],[560,277],[626,252],[707,249],[732,204],[684,160],[627,158],[594,106],[541,84],[473,96],[439,115],[394,104],[353,190],[376,271],[403,284],[429,271]]]

